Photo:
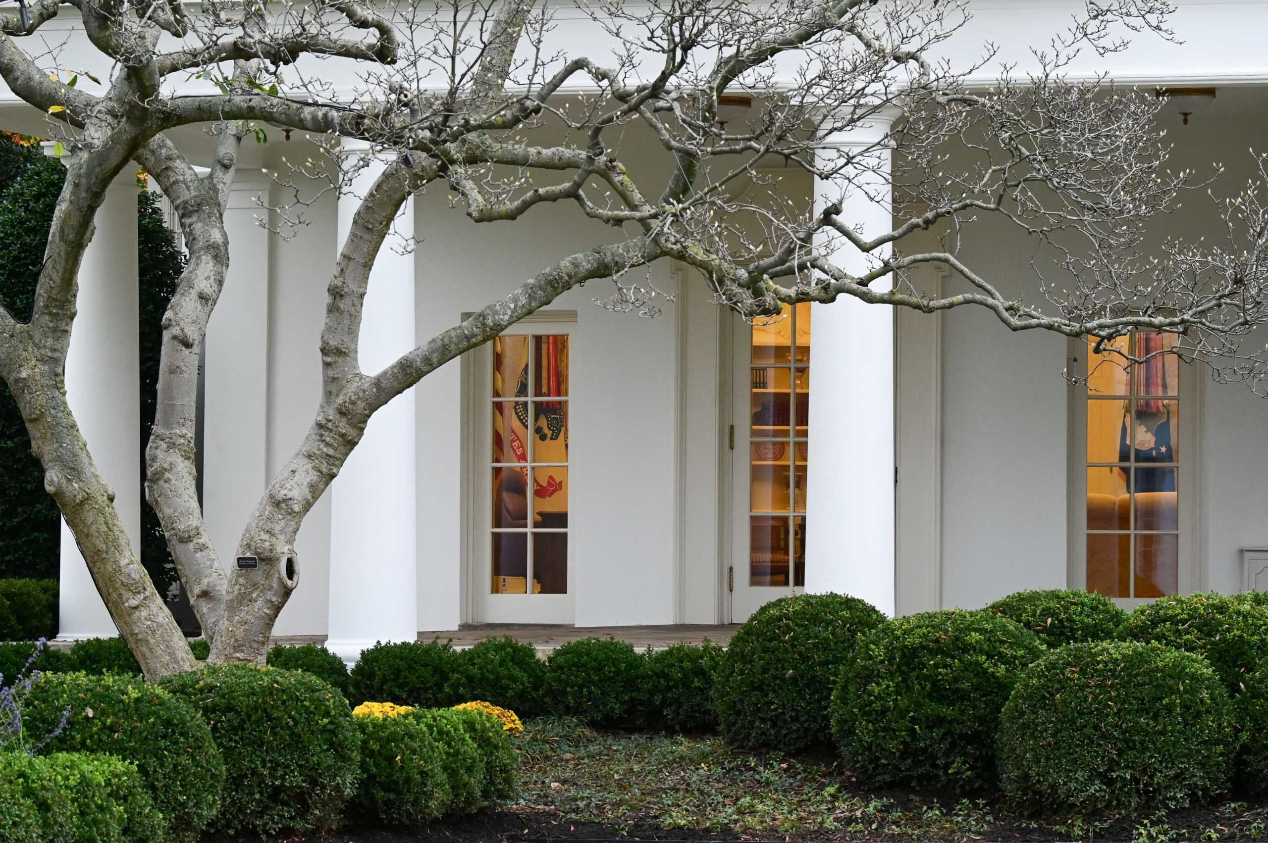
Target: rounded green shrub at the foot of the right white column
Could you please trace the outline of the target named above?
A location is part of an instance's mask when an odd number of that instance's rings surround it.
[[[795,752],[829,743],[828,701],[860,634],[885,622],[871,603],[798,595],[735,631],[718,673],[718,725],[735,747]]]

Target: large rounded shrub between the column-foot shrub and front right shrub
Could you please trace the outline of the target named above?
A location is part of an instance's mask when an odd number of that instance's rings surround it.
[[[993,785],[999,712],[1044,653],[987,611],[909,615],[861,636],[832,696],[846,766],[875,785]]]

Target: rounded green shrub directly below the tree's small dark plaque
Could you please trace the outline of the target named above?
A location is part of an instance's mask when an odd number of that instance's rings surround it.
[[[344,695],[311,673],[210,664],[162,681],[212,728],[224,758],[223,832],[308,832],[355,792],[359,735]]]

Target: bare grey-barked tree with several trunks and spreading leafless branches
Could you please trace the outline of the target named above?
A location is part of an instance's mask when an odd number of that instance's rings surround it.
[[[77,9],[99,56],[71,61],[48,46],[39,28],[62,5]],[[978,306],[1013,331],[1106,344],[1132,330],[1173,333],[1174,352],[1232,360],[1220,371],[1260,383],[1263,360],[1238,346],[1268,306],[1268,210],[1255,188],[1225,210],[1227,247],[1169,243],[1148,260],[1149,221],[1194,185],[1191,174],[1164,166],[1158,100],[1103,80],[1063,79],[1080,49],[1122,49],[1132,30],[1173,37],[1165,0],[1088,0],[1085,14],[1036,53],[1037,74],[1017,80],[1006,71],[987,90],[966,80],[994,61],[989,46],[971,67],[937,57],[967,20],[966,0],[578,0],[577,9],[621,49],[555,51],[545,6],[492,0],[247,0],[245,9],[204,0],[195,15],[156,0],[37,0],[0,16],[0,75],[48,114],[67,169],[32,321],[0,313],[0,375],[22,408],[46,488],[147,677],[194,662],[132,554],[62,384],[94,213],[133,162],[171,199],[189,250],[164,321],[146,493],[212,662],[262,659],[295,587],[299,525],[378,408],[587,280],[614,280],[610,307],[654,312],[659,292],[645,267],[663,259],[697,269],[696,283],[751,319],[842,295],[926,312]],[[94,94],[72,85],[67,63],[112,70],[99,74]],[[355,90],[321,74],[336,66]],[[172,93],[190,77],[205,93]],[[743,125],[719,123],[719,98],[735,94],[752,98],[752,113]],[[871,146],[831,142],[895,106],[903,117]],[[236,548],[257,557],[259,568],[226,574],[226,549],[212,546],[195,494],[197,357],[228,266],[223,212],[238,147],[266,132],[265,123],[307,133],[318,150],[359,138],[392,164],[361,198],[331,271],[320,408]],[[197,175],[167,136],[188,124],[216,136],[209,175]],[[635,179],[625,167],[620,137],[634,127],[663,147],[672,161],[663,172]],[[564,139],[543,139],[550,137]],[[884,152],[893,170],[879,174]],[[342,193],[365,164],[321,157],[274,175],[284,185],[318,179]],[[817,213],[810,198],[781,194],[758,170],[771,160],[839,185],[841,200],[884,184],[874,198],[893,204],[895,227],[865,236],[842,202]],[[752,186],[737,190],[741,183]],[[358,361],[370,267],[402,203],[431,184],[454,191],[473,223],[568,205],[595,224],[595,245],[531,270],[507,266],[525,276],[517,289],[370,375]],[[276,210],[285,222],[297,208]],[[1030,299],[1003,295],[989,267],[960,259],[964,223],[983,216],[1003,217],[1055,250],[1051,276],[1036,276]],[[943,232],[937,251],[903,251],[904,238],[935,226]],[[842,252],[869,256],[869,267],[847,270],[833,260]],[[923,294],[908,273],[931,262],[948,266],[970,292]]]

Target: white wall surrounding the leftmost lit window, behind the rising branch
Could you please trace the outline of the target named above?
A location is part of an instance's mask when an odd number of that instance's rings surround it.
[[[612,237],[543,208],[515,223],[477,227],[443,189],[417,198],[418,336],[430,337],[505,295],[549,261]],[[477,240],[478,238],[478,240]],[[672,289],[670,266],[653,270]],[[673,621],[673,307],[654,319],[595,304],[592,281],[552,304],[576,309],[571,347],[569,527],[574,530],[576,622]],[[418,418],[418,624],[459,621],[460,366],[415,389]],[[472,431],[477,449],[486,431]],[[479,453],[479,451],[478,451]]]

